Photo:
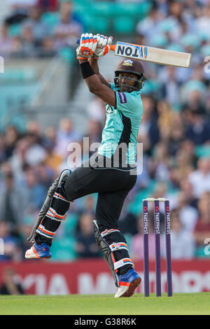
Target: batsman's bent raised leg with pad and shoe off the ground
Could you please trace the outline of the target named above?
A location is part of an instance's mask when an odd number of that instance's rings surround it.
[[[26,252],[26,258],[51,257],[52,239],[64,220],[71,201],[91,193],[117,189],[122,178],[118,173],[113,178],[111,171],[94,169],[87,160],[71,174],[66,170],[66,175],[62,173],[56,179],[28,238],[28,241],[35,241],[35,244]]]

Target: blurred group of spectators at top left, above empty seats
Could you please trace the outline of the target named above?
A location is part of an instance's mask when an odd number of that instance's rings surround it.
[[[48,19],[48,13],[55,15]],[[64,47],[75,49],[83,29],[71,1],[13,0],[1,25],[1,56],[52,57]]]

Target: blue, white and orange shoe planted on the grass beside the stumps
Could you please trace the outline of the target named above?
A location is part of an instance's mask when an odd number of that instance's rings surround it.
[[[129,269],[124,275],[120,275],[119,288],[116,292],[115,298],[118,297],[131,297],[134,290],[141,283],[141,277],[134,269]]]

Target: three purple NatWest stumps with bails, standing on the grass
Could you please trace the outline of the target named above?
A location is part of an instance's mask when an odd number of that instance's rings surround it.
[[[149,251],[148,251],[148,202],[154,202],[154,227],[155,227],[155,274],[156,296],[161,296],[161,257],[160,257],[160,202],[165,204],[165,242],[167,262],[167,295],[172,296],[172,256],[170,235],[170,207],[169,200],[164,198],[147,198],[143,200],[143,235],[144,235],[144,296],[150,294],[149,285]]]

